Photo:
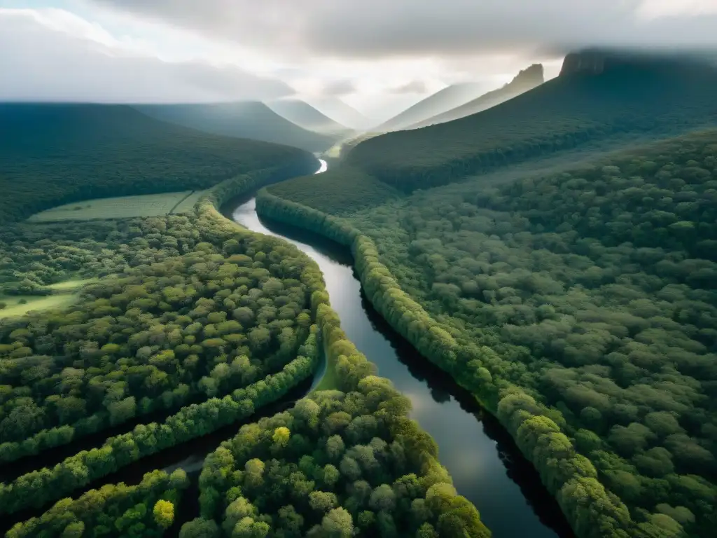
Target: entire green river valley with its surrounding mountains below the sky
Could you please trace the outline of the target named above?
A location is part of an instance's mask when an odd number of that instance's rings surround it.
[[[711,536],[717,64],[561,62],[0,103],[0,532]]]

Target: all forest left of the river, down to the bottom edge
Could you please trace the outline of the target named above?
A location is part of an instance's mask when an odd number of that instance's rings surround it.
[[[0,319],[0,516],[44,510],[7,537],[490,536],[409,420],[409,400],[346,339],[313,260],[217,211],[315,166],[276,151],[272,166],[223,179],[189,214],[4,224],[0,293],[47,296],[85,282],[62,310]],[[244,425],[208,458],[201,518],[176,529],[189,488],[181,469],[95,486],[247,423],[313,377],[324,354],[336,387]],[[24,472],[33,456],[53,463]],[[232,483],[219,478],[229,467]]]

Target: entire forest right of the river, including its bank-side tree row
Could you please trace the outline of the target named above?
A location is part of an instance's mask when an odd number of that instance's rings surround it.
[[[351,247],[374,306],[498,416],[578,536],[711,536],[717,131],[563,168],[339,217],[280,185],[257,208]]]

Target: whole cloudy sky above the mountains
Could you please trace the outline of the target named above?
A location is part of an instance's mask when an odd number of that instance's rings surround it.
[[[341,99],[383,121],[573,49],[717,46],[717,0],[0,0],[0,100]]]

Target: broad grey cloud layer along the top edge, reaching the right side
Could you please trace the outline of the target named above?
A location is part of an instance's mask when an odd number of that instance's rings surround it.
[[[92,1],[293,57],[717,44],[715,0]]]

